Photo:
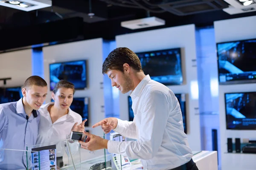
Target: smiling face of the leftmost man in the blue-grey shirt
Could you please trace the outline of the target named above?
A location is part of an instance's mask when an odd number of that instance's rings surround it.
[[[38,110],[46,99],[47,86],[32,85],[27,90],[23,88],[22,93],[29,107],[33,110]]]

